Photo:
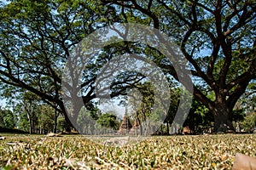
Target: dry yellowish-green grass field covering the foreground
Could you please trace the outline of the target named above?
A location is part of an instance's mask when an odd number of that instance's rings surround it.
[[[1,135],[2,169],[230,169],[236,153],[256,156],[256,134],[155,136],[124,146],[80,135]]]

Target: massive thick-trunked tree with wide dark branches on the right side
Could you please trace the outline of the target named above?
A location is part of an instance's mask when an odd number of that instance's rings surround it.
[[[234,130],[232,110],[256,77],[256,3],[245,1],[102,0],[125,21],[154,26],[172,37],[189,61],[194,95],[214,116],[214,130]],[[160,55],[154,56],[160,60]],[[158,63],[169,74],[168,64]],[[172,74],[173,75],[173,74]],[[214,99],[204,91],[214,92]]]

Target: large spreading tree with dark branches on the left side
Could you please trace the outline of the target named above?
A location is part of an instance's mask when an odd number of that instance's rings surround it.
[[[68,116],[61,97],[61,71],[84,37],[107,26],[108,22],[119,20],[118,16],[113,17],[114,8],[90,0],[14,0],[0,5],[0,85],[3,94],[12,97],[22,90],[32,92],[61,112],[67,125],[71,125],[70,118],[77,120],[83,103],[76,107],[73,116]],[[109,59],[111,54],[102,54],[101,58],[91,59],[84,69],[84,82],[79,86],[84,89],[84,104],[96,98],[94,82]],[[137,75],[126,74],[122,78],[132,82]],[[122,92],[124,90],[115,90],[112,96]],[[78,93],[74,95],[73,98],[79,98]]]

